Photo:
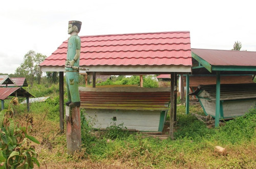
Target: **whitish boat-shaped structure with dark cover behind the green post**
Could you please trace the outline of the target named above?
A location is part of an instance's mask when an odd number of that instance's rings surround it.
[[[196,95],[206,115],[216,118],[216,85],[200,85]],[[220,87],[220,119],[243,116],[255,106],[256,83],[225,84]]]

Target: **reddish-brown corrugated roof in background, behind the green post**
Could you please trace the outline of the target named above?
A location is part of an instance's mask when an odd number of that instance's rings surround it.
[[[221,84],[254,83],[252,76],[221,76]],[[189,76],[189,87],[199,85],[216,85],[216,76]],[[183,78],[183,86],[186,86],[186,78]]]

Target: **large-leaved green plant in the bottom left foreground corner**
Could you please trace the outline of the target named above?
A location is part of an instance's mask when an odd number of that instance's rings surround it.
[[[34,163],[39,167],[37,153],[30,142],[40,143],[28,135],[28,131],[32,130],[33,118],[27,115],[24,127],[15,124],[12,117],[13,110],[10,106],[0,112],[0,168],[34,168]]]

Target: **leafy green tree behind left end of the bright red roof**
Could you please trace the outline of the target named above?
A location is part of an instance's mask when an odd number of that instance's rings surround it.
[[[31,86],[34,80],[39,84],[42,76],[39,64],[45,59],[46,55],[30,50],[25,54],[23,63],[15,70],[15,74],[18,77],[26,77]]]

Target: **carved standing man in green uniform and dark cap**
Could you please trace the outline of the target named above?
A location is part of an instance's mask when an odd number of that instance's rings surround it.
[[[80,32],[82,22],[77,20],[69,21],[67,60],[65,64],[66,83],[68,102],[66,105],[70,107],[80,107],[80,96],[78,92],[79,79],[79,59],[81,50],[81,41],[78,33]]]

